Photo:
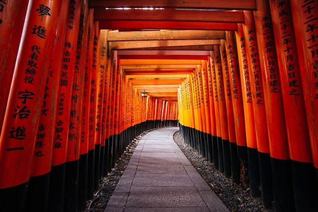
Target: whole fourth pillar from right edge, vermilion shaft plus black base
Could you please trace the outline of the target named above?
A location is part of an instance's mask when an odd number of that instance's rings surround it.
[[[270,150],[266,122],[264,88],[261,73],[261,64],[255,22],[252,11],[244,11],[245,23],[243,24],[246,41],[246,54],[248,71],[252,89],[253,112],[255,117],[255,129],[257,150],[259,155],[260,179],[262,186],[262,202],[265,208],[272,208],[272,169],[270,165]]]

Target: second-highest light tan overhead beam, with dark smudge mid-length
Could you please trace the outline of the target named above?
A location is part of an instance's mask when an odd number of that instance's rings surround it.
[[[198,46],[198,45],[218,45],[220,40],[151,40],[151,41],[112,41],[111,49],[135,49],[162,46]]]

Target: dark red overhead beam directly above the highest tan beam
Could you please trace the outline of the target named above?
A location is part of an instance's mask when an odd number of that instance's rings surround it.
[[[198,21],[100,21],[100,29],[119,31],[138,31],[142,29],[205,29],[236,31],[236,23],[198,22]]]

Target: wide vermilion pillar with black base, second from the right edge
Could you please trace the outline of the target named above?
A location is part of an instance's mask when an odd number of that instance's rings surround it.
[[[308,4],[305,6],[307,9],[312,8],[309,2],[306,4]],[[312,165],[310,136],[290,1],[271,1],[270,8],[283,94],[289,155],[293,169],[296,211],[316,210],[317,197],[308,192],[313,185],[316,185],[316,178]],[[310,16],[310,20],[311,18],[313,17]],[[310,24],[308,22],[306,26]],[[305,64],[309,65],[309,61]]]

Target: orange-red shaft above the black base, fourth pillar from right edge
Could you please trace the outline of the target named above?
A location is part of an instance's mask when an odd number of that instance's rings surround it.
[[[257,148],[261,153],[269,153],[264,88],[253,12],[244,11],[244,16],[243,31],[252,91]]]

